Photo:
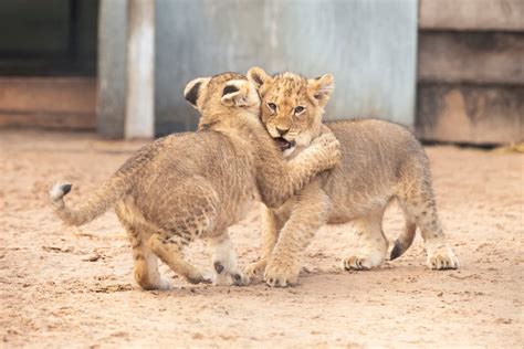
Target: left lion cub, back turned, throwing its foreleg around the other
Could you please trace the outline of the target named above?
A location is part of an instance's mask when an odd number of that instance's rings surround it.
[[[132,242],[135,279],[144,289],[171,288],[158,272],[158,258],[193,284],[245,284],[228,226],[254,199],[281,205],[340,156],[338,141],[328,136],[286,162],[259,120],[259,95],[243,75],[195,80],[185,96],[201,114],[197,133],[146,145],[77,208],[63,200],[71,184],[50,192],[54,212],[69,225],[116,209]],[[182,247],[197,237],[210,248],[211,277],[184,258]]]

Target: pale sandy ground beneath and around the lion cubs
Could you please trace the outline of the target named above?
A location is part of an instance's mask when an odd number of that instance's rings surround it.
[[[450,347],[524,345],[524,156],[429,147],[441,218],[459,271],[425,266],[420,236],[401,258],[370,272],[338,265],[350,225],[326,226],[294,288],[192,286],[143,292],[114,213],[80,230],[51,214],[57,179],[77,202],[140,142],[90,134],[0,130],[0,347]],[[253,210],[232,239],[242,266],[256,257]],[[386,214],[390,240],[402,221]],[[203,245],[188,251],[207,266]]]

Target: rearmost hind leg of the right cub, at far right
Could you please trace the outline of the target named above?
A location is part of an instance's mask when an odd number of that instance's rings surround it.
[[[427,264],[432,269],[455,269],[459,258],[448,244],[442,225],[437,213],[431,182],[421,180],[411,187],[405,201],[405,207],[415,216],[425,240],[428,254]]]

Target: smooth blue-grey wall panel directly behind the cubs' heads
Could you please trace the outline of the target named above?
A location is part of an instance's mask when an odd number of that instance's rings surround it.
[[[331,72],[327,119],[384,117],[411,126],[416,0],[157,0],[156,129],[193,129],[185,84],[260,65]]]

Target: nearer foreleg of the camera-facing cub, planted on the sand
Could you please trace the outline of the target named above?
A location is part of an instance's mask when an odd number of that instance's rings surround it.
[[[327,221],[329,198],[315,179],[297,197],[290,220],[268,260],[264,278],[272,287],[295,285],[305,247]]]

